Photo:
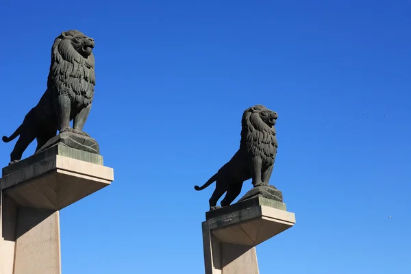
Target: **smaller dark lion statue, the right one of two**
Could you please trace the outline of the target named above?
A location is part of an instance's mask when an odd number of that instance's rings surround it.
[[[277,153],[274,127],[277,118],[277,112],[264,105],[254,105],[244,111],[240,149],[206,184],[194,187],[195,190],[203,190],[216,182],[216,189],[209,200],[210,210],[220,208],[216,203],[225,192],[221,206],[229,206],[240,195],[242,184],[248,179],[252,178],[254,187],[269,185]]]

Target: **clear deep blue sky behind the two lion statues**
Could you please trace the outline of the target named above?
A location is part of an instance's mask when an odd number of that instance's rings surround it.
[[[411,273],[410,14],[410,1],[3,0],[1,135],[44,92],[55,36],[96,40],[85,130],[115,180],[62,210],[63,273],[203,273],[214,186],[193,186],[236,152],[256,103],[279,113],[271,184],[297,218],[258,246],[260,272]]]

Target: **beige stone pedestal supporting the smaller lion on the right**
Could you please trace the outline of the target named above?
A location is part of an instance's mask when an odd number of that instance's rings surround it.
[[[254,197],[206,213],[206,274],[258,274],[256,246],[295,224],[285,203]]]

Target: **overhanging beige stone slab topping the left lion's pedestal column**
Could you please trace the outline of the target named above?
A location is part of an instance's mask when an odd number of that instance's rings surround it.
[[[107,166],[53,155],[1,177],[0,185],[17,206],[61,210],[113,180]]]

